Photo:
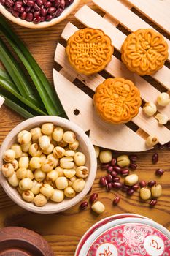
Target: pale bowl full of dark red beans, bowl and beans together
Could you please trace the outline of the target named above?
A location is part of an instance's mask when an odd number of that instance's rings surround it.
[[[30,29],[43,29],[64,20],[80,0],[0,0],[7,19]]]

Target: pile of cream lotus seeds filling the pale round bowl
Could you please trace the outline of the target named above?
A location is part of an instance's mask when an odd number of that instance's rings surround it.
[[[4,152],[1,171],[23,200],[45,206],[84,189],[89,170],[74,132],[46,123],[19,132],[17,139]]]

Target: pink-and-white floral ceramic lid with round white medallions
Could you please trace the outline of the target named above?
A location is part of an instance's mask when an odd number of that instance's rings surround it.
[[[99,227],[79,256],[169,256],[170,233],[150,219],[124,218]]]

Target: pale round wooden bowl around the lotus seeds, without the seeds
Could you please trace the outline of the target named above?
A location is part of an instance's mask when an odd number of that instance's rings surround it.
[[[25,208],[28,211],[33,211],[39,214],[53,214],[59,211],[64,211],[79,203],[80,200],[82,200],[82,198],[87,195],[90,188],[92,187],[97,170],[96,153],[93,144],[90,142],[88,136],[80,127],[77,126],[77,124],[74,124],[72,121],[57,116],[36,116],[34,118],[23,121],[22,123],[18,124],[14,129],[12,129],[12,131],[9,132],[1,145],[0,170],[1,166],[3,165],[2,156],[4,154],[4,151],[10,148],[10,146],[12,146],[12,144],[17,141],[18,132],[23,129],[30,130],[31,128],[39,127],[43,123],[47,122],[52,122],[55,126],[60,126],[64,129],[69,129],[75,132],[75,134],[77,135],[77,140],[79,140],[80,142],[80,151],[82,151],[86,156],[86,166],[89,169],[89,175],[88,178],[86,178],[85,188],[75,197],[70,199],[64,199],[61,203],[53,203],[52,201],[49,201],[45,206],[38,207],[35,206],[34,203],[27,203],[26,201],[24,201],[18,193],[17,189],[10,186],[7,178],[5,178],[0,172],[1,186],[4,188],[4,191],[7,193],[7,195],[9,195],[9,197],[18,204],[18,206]]]

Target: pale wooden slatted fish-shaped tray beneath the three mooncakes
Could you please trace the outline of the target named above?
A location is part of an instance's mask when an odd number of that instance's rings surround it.
[[[93,0],[93,3],[104,11],[105,14],[103,17],[86,5],[76,12],[75,17],[85,26],[103,30],[112,39],[112,45],[118,51],[120,51],[121,45],[126,37],[117,28],[118,24],[124,26],[128,31],[150,28],[148,23],[131,11],[131,7],[133,6],[152,21],[154,20],[166,32],[170,31],[170,2],[168,0]],[[159,14],[158,8],[160,8]],[[77,30],[78,28],[76,26],[68,23],[61,37],[68,40]],[[170,41],[166,37],[165,39],[170,49]],[[132,119],[132,122],[139,127],[136,132],[126,124],[117,126],[102,121],[93,108],[92,98],[75,86],[74,80],[80,80],[85,86],[95,91],[96,87],[104,81],[104,77],[99,74],[89,77],[78,74],[69,65],[65,48],[60,43],[58,43],[55,50],[55,61],[62,67],[59,72],[53,69],[53,78],[55,90],[61,99],[63,108],[70,120],[80,125],[85,131],[90,130],[90,140],[92,140],[94,145],[117,151],[146,151],[150,149],[145,145],[145,138],[148,135],[156,135],[161,144],[170,140],[170,130],[163,125],[159,125],[154,117],[146,116],[142,108],[139,109],[139,114]],[[170,55],[168,61],[170,61]],[[126,69],[122,61],[117,59],[116,56],[112,56],[112,61],[105,68],[105,72],[110,77],[123,77],[134,81],[134,84],[141,92],[143,101],[155,102],[156,104],[156,99],[160,91],[144,78]],[[164,65],[161,70],[152,75],[152,78],[163,86],[164,91],[170,90],[170,70],[168,67]],[[158,112],[166,113],[170,118],[170,105],[165,108],[157,105],[157,108]]]

